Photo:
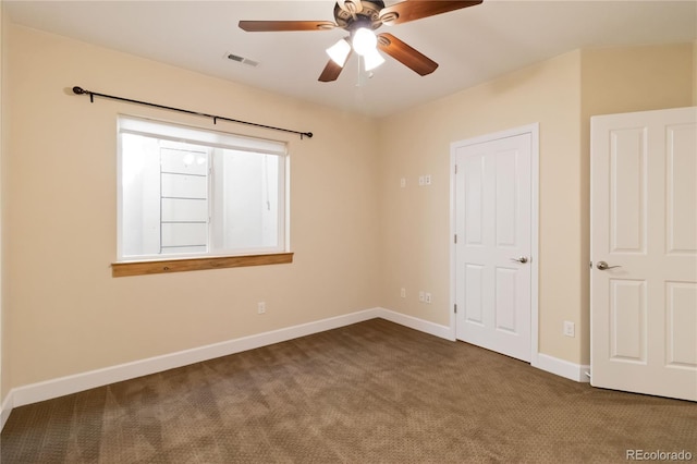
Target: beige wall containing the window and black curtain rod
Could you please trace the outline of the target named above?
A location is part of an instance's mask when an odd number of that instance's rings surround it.
[[[377,132],[370,120],[21,26],[11,27],[5,222],[11,387],[378,305]],[[111,278],[115,119],[207,119],[68,91],[84,88],[315,133],[288,139],[292,265]],[[346,144],[344,129],[362,134]],[[257,315],[257,302],[267,313]],[[7,333],[5,333],[7,335]]]

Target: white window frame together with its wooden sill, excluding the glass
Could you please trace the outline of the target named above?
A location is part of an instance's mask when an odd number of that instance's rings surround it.
[[[213,249],[206,253],[175,255],[123,254],[123,160],[122,134],[130,133],[148,137],[199,144],[209,148],[223,148],[258,152],[279,157],[279,245],[271,248]],[[179,135],[182,134],[182,135]],[[111,264],[112,277],[170,273],[191,270],[221,269],[231,267],[290,264],[290,156],[288,142],[252,137],[234,133],[186,125],[179,122],[151,118],[119,114],[117,118],[117,259]],[[212,188],[210,188],[212,194]],[[212,215],[212,211],[211,211]],[[220,218],[218,219],[220,220]],[[209,221],[209,224],[211,222]],[[210,241],[209,233],[209,241]]]

